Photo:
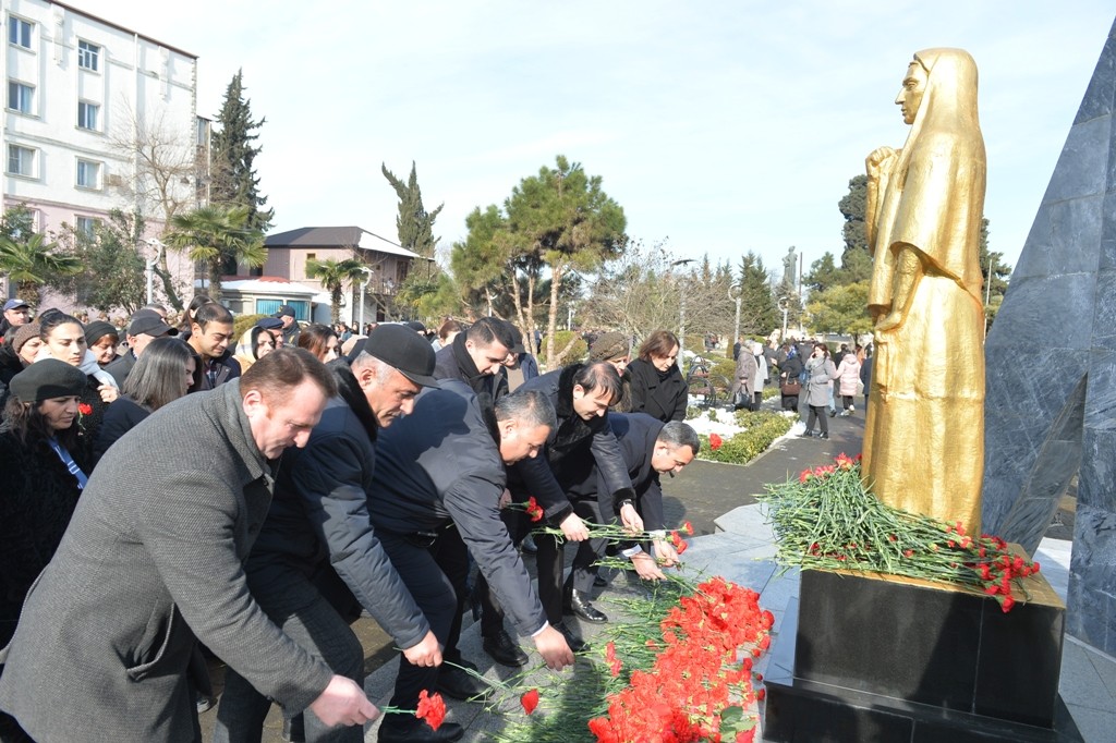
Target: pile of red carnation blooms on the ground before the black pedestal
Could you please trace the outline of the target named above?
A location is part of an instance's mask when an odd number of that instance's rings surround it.
[[[608,697],[607,716],[590,720],[589,731],[600,743],[752,741],[758,721],[743,708],[763,698],[762,689],[752,691],[752,658],[770,644],[773,623],[756,591],[723,578],[699,585],[660,623],[662,641],[647,640],[657,652],[652,667],[632,672],[628,686]],[[619,674],[613,644],[605,660]]]

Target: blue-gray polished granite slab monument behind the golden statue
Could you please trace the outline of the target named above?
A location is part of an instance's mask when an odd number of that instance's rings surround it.
[[[1067,631],[1116,655],[1116,25],[985,344],[984,530],[1033,553],[1077,475]]]

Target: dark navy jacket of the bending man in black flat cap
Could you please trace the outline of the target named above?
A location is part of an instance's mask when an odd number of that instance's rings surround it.
[[[329,401],[305,448],[288,448],[275,495],[248,558],[252,590],[286,571],[337,575],[401,648],[430,625],[379,546],[368,515],[379,426],[345,359],[329,364],[339,397]]]

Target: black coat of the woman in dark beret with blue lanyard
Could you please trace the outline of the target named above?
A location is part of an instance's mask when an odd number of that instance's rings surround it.
[[[80,452],[70,456],[88,474]],[[0,433],[0,647],[16,631],[20,607],[66,533],[81,491],[47,441]]]

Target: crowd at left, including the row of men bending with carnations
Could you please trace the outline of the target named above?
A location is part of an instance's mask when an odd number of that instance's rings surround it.
[[[296,740],[359,741],[362,612],[400,648],[392,707],[482,699],[471,598],[497,663],[526,641],[561,669],[586,648],[569,618],[608,620],[593,524],[623,524],[641,578],[677,560],[660,476],[700,442],[670,331],[540,374],[539,338],[498,318],[357,334],[283,306],[234,337],[198,297],[179,327],[20,300],[4,324],[0,740],[200,740],[205,648],[228,666],[214,740],[258,741],[278,703]],[[536,533],[537,590],[532,498],[562,533]],[[379,740],[462,734],[391,714]]]

